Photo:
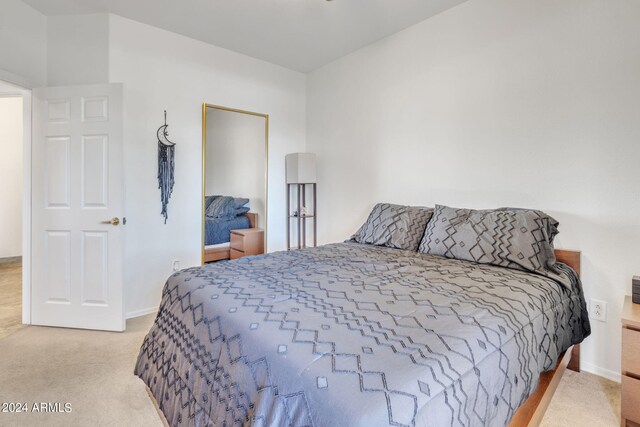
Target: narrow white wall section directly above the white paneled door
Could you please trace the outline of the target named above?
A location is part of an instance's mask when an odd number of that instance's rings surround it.
[[[47,18],[47,86],[109,81],[109,15]]]

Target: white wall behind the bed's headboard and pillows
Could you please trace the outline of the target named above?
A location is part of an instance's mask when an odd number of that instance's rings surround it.
[[[582,348],[620,372],[640,273],[640,2],[471,0],[308,76],[319,239],[376,202],[542,209],[608,302]]]

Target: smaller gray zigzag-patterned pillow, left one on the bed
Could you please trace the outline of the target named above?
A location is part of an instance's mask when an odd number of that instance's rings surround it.
[[[358,243],[415,251],[432,214],[431,208],[378,203],[351,239]]]

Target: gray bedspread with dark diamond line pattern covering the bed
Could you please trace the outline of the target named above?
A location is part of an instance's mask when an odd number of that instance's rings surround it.
[[[561,268],[356,243],[191,268],[135,373],[172,426],[503,426],[590,333]]]

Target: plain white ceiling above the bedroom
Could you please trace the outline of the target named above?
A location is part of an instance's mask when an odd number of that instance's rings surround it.
[[[115,13],[308,72],[466,0],[23,0],[45,15]]]

